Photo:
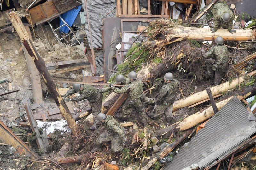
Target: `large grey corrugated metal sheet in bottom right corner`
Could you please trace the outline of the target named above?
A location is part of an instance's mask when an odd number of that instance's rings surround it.
[[[208,167],[227,155],[256,132],[256,123],[249,121],[248,115],[243,104],[233,97],[180,149],[165,169],[181,170],[192,164]]]

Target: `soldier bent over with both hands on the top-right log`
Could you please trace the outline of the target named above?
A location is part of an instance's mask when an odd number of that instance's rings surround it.
[[[233,30],[233,12],[229,9],[228,5],[223,3],[217,3],[213,6],[212,14],[214,18],[214,28],[210,30],[213,32],[217,31],[220,26],[224,29],[228,29],[230,33],[236,32]]]

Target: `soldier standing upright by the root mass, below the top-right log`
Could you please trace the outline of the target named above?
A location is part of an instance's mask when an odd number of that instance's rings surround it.
[[[215,71],[214,85],[219,85],[222,80],[222,75],[228,70],[228,48],[223,45],[223,38],[221,36],[215,39],[218,44],[211,48],[207,53],[203,54],[206,60],[205,74],[213,77]]]

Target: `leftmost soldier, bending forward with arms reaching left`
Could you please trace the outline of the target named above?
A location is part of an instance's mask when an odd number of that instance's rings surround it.
[[[108,90],[108,89],[106,89]],[[76,92],[80,92],[80,96],[73,97],[72,99],[66,98],[67,96],[74,94]],[[81,101],[81,100],[88,100],[90,103],[90,106],[92,107],[92,115],[94,123],[90,127],[91,130],[94,130],[99,125],[99,121],[97,120],[97,115],[101,112],[102,107],[102,92],[105,92],[104,89],[97,89],[91,85],[80,85],[80,84],[74,84],[73,89],[70,89],[67,91],[67,93],[63,96],[64,101]]]

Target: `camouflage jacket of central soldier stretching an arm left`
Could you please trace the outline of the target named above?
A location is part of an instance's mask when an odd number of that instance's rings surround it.
[[[142,96],[143,84],[141,80],[132,81],[131,83],[125,85],[121,89],[114,88],[113,91],[118,94],[128,92],[128,99],[135,100]]]

